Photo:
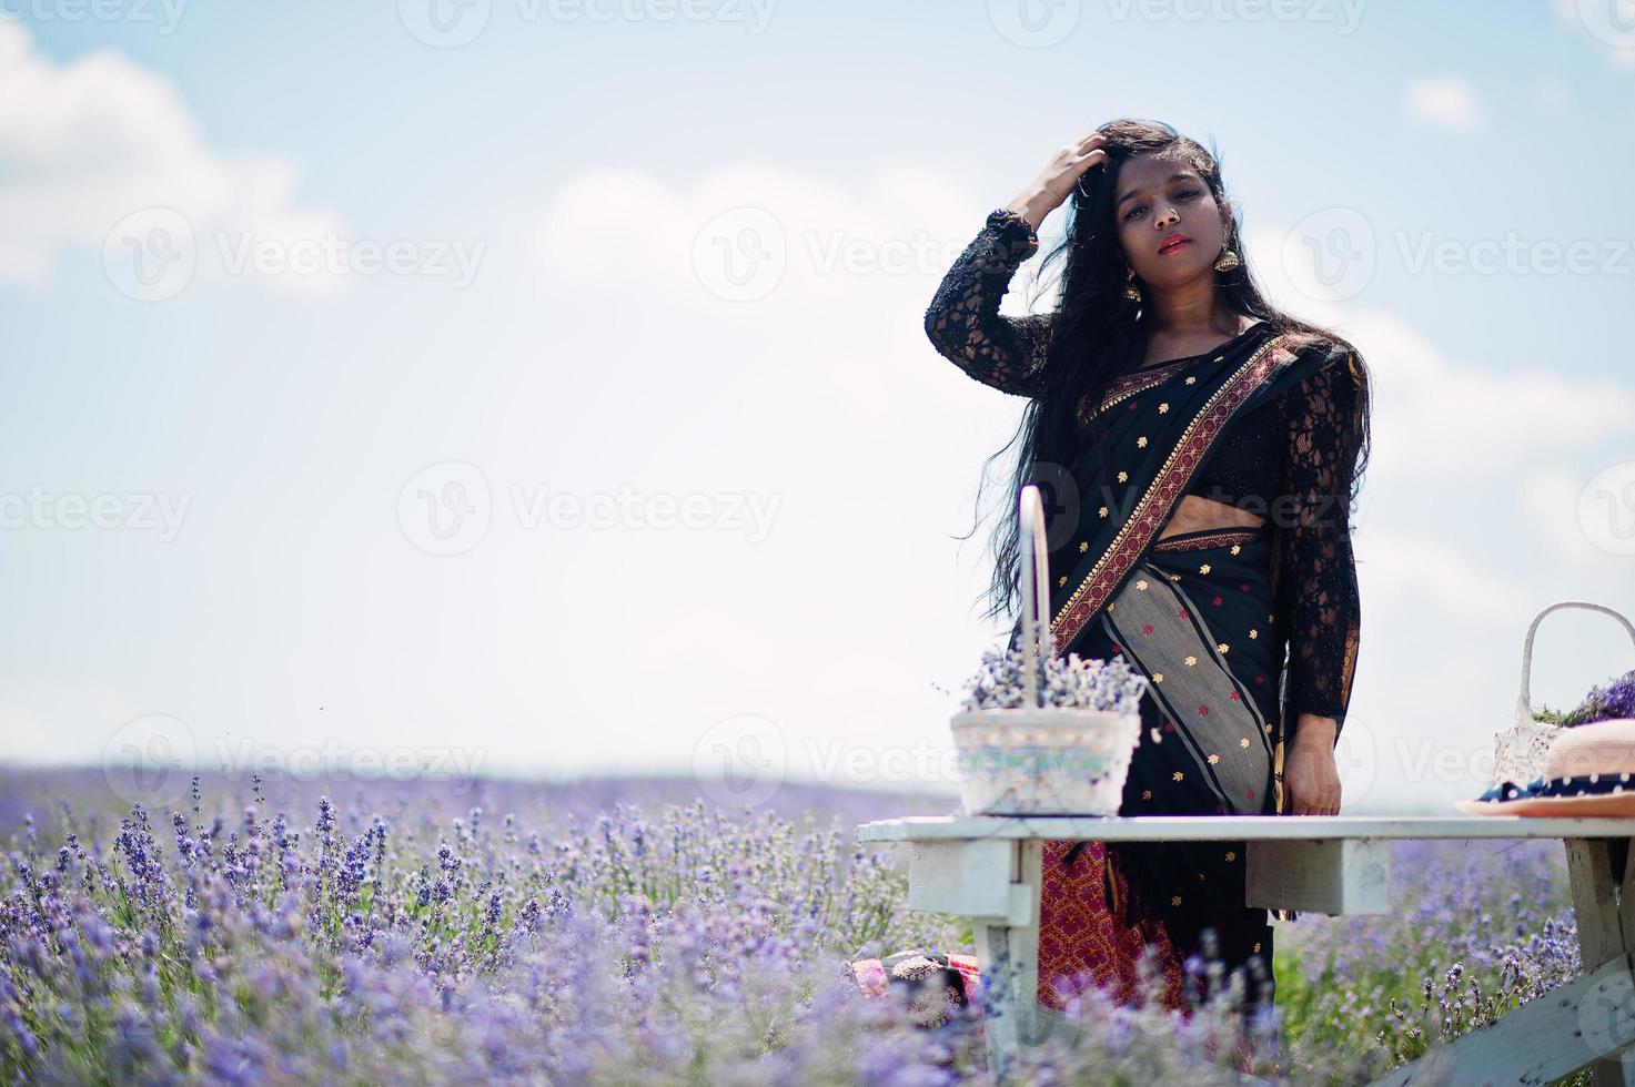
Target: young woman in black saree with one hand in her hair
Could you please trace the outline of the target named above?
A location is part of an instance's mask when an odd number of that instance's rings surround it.
[[[1064,257],[1056,309],[1001,315],[1040,222],[1069,196],[1046,257]],[[1028,397],[1012,499],[1030,482],[1045,497],[1056,652],[1122,654],[1149,682],[1120,812],[1337,812],[1367,369],[1351,343],[1265,301],[1215,157],[1128,119],[1059,149],[988,216],[925,332],[971,378]],[[1014,510],[994,535],[989,616],[1019,593]],[[1020,623],[1012,647],[1019,636]],[[1270,1002],[1272,928],[1243,906],[1244,858],[1241,842],[1048,842],[1038,1000],[1059,1009],[1059,981],[1133,999],[1153,945],[1172,1007],[1182,961],[1212,953]],[[924,951],[853,966],[871,992],[919,984],[914,971],[958,977],[956,1002],[974,973]]]

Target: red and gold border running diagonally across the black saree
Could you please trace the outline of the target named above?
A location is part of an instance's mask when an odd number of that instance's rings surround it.
[[[1261,384],[1293,355],[1293,351],[1285,347],[1285,343],[1293,342],[1295,337],[1282,335],[1274,337],[1262,343],[1244,363],[1233,371],[1233,374],[1221,382],[1210,399],[1198,410],[1197,417],[1182,432],[1180,440],[1176,448],[1171,450],[1169,456],[1164,459],[1162,467],[1158,469],[1158,476],[1153,479],[1146,494],[1141,495],[1141,502],[1118,528],[1118,535],[1109,544],[1102,557],[1095,561],[1091,572],[1079,582],[1077,588],[1068,598],[1051,620],[1051,633],[1056,636],[1058,652],[1066,652],[1079,633],[1089,624],[1091,616],[1095,615],[1107,598],[1113,593],[1118,584],[1123,580],[1125,574],[1130,572],[1146,551],[1148,543],[1162,528],[1164,521],[1169,518],[1169,512],[1174,508],[1176,502],[1187,489],[1192,474],[1197,471],[1198,464],[1203,463],[1203,454],[1208,451],[1210,445],[1220,436],[1226,423],[1231,422],[1233,414],[1238,407],[1249,397],[1251,392],[1261,387]],[[1174,371],[1171,371],[1174,373]],[[1130,374],[1130,378],[1138,378],[1141,387],[1151,387],[1158,384],[1161,378],[1156,374]],[[1130,396],[1138,391],[1138,387],[1125,387],[1130,378],[1120,379],[1113,389],[1109,392],[1107,402],[1115,404],[1120,397]]]

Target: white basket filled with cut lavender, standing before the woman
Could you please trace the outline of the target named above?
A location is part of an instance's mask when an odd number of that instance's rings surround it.
[[[952,724],[970,816],[1115,816],[1141,740],[1146,677],[1122,659],[1056,655],[1038,487],[1022,489],[1020,647],[988,651]]]

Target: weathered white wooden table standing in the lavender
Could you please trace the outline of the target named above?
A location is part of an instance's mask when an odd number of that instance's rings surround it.
[[[1592,1067],[1635,1087],[1635,819],[1534,816],[911,816],[865,822],[858,842],[909,845],[909,907],[971,919],[994,1015],[988,1062],[1004,1074],[1059,1017],[1035,1004],[1040,860],[1048,839],[1246,842],[1246,904],[1311,914],[1390,910],[1393,840],[1561,839],[1584,969],[1548,995],[1378,1084],[1413,1084],[1450,1062],[1454,1084],[1542,1084]],[[996,973],[996,963],[1012,971]],[[1006,977],[1009,974],[1009,981]],[[1622,1054],[1622,1056],[1620,1056]],[[1442,1082],[1442,1080],[1439,1080]]]

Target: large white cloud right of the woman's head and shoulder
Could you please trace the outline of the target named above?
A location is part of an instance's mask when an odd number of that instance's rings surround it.
[[[1434,629],[1468,639],[1491,665],[1509,659],[1514,631],[1545,603],[1627,608],[1617,593],[1628,590],[1630,561],[1589,543],[1578,495],[1612,440],[1628,433],[1635,386],[1547,368],[1491,371],[1386,311],[1313,301],[1283,266],[1287,232],[1246,230],[1269,297],[1355,343],[1373,379],[1373,446],[1355,518],[1370,616],[1364,655],[1383,652],[1385,633]],[[1414,680],[1421,665],[1431,670]],[[1395,711],[1393,691],[1445,677],[1429,657],[1391,657],[1388,687],[1359,687],[1364,713]]]

